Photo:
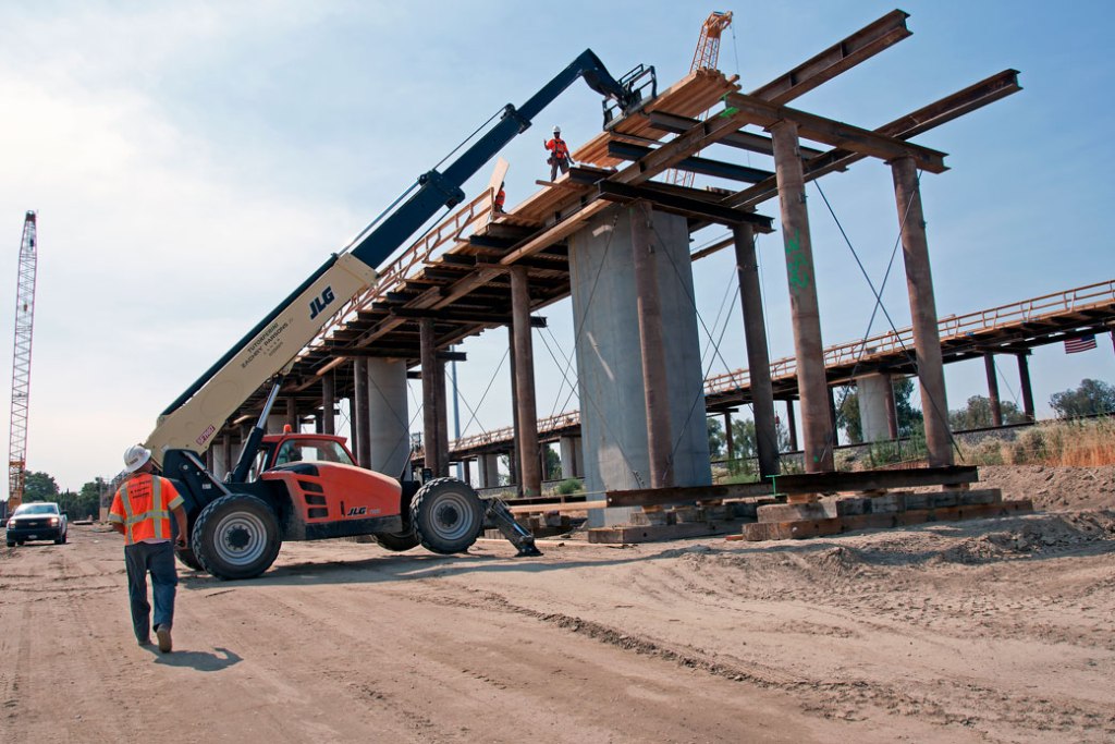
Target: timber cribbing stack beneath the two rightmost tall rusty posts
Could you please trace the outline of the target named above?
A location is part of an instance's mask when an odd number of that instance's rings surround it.
[[[745,524],[743,528],[743,539],[750,541],[803,540],[805,538],[842,534],[853,530],[888,529],[924,524],[927,522],[956,522],[988,516],[1009,516],[1011,514],[1028,514],[1034,511],[1034,502],[1029,499],[1002,501],[998,489],[972,491],[970,494],[975,496],[970,503],[953,506],[852,514],[828,519],[804,519],[784,522],[760,521],[754,524]],[[918,495],[935,496],[939,494]],[[764,506],[763,509],[767,508]]]

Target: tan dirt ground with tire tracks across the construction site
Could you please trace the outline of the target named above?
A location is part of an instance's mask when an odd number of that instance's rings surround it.
[[[289,543],[181,572],[136,646],[118,535],[0,553],[0,741],[1112,742],[1115,470],[1034,515],[802,542]]]

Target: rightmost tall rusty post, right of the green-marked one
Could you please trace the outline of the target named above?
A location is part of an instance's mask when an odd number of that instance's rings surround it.
[[[894,199],[902,229],[902,258],[905,261],[906,290],[910,293],[910,315],[913,319],[913,346],[918,357],[929,464],[951,465],[952,436],[949,432],[949,400],[944,392],[941,335],[937,325],[933,276],[929,267],[925,218],[913,158],[899,157],[892,161],[891,175],[894,178]]]

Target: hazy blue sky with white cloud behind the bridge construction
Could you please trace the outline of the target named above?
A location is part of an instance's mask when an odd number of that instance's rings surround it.
[[[688,71],[708,12],[731,10],[720,68],[740,75],[746,90],[893,8],[870,0],[0,4],[0,239],[8,241],[0,288],[9,292],[0,329],[8,332],[23,212],[40,215],[28,466],[71,489],[115,473],[155,415],[330,252],[503,104],[522,103],[585,48],[617,75],[655,65],[668,85]],[[1065,8],[905,2],[910,39],[794,104],[875,127],[1001,69],[1021,71],[1021,93],[918,138],[949,153],[951,166],[922,186],[941,316],[1115,278],[1106,176],[1115,158],[1106,146],[1115,128],[1113,11],[1105,2]],[[570,142],[584,142],[599,129],[599,110],[597,95],[579,85],[504,151],[508,204],[544,177],[537,141],[550,127],[560,123]],[[726,148],[715,155],[770,167]],[[878,281],[898,234],[889,168],[862,162],[821,185]],[[808,194],[824,341],[854,340],[867,330],[871,293],[818,192]],[[760,209],[777,216],[776,202]],[[759,242],[773,357],[793,352],[780,250],[777,233]],[[728,252],[695,264],[698,309],[714,336],[730,270]],[[883,299],[906,325],[901,271]],[[569,303],[543,315],[553,330],[545,340],[569,352]],[[730,367],[745,364],[738,316],[736,305],[721,346]],[[504,331],[464,347],[463,409],[479,408],[467,433],[511,419],[505,365],[479,406],[505,349]],[[539,413],[560,412],[568,388],[539,337],[535,354]],[[1000,369],[1002,395],[1014,399],[1014,360]],[[725,371],[719,361],[707,370]],[[10,359],[0,375],[10,379]],[[1031,376],[1039,415],[1048,415],[1049,395],[1083,377],[1115,383],[1115,354],[1106,339],[1073,357],[1039,349]],[[950,366],[947,379],[952,407],[986,394],[979,361]]]

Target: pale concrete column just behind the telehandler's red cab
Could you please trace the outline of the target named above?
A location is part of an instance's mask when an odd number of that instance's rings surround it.
[[[368,365],[368,464],[399,477],[410,455],[407,363],[371,358]]]

